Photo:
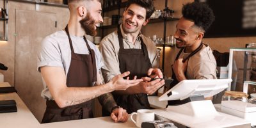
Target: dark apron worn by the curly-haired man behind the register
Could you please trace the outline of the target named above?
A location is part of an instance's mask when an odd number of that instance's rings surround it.
[[[188,60],[191,56],[193,56],[194,54],[196,54],[197,52],[199,52],[204,46],[204,43],[201,42],[201,44],[195,49],[195,51],[191,52],[186,58],[184,58],[184,60],[182,60],[182,62],[184,63],[186,60]],[[179,53],[177,54],[175,61],[179,59],[180,54],[182,53],[182,51],[184,51],[185,47],[182,47],[179,51]],[[186,72],[185,72],[186,74]],[[173,88],[173,86],[175,86],[176,84],[179,83],[179,81],[176,78],[175,73],[173,72],[173,68],[172,68],[172,83],[170,84],[170,87],[168,88],[168,90],[170,90],[171,88]],[[168,100],[168,105],[172,105],[172,106],[176,106],[176,105],[180,105],[180,104],[185,104],[187,103],[188,100]]]

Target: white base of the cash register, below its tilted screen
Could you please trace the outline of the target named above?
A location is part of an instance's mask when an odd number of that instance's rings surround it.
[[[205,127],[247,127],[250,122],[242,118],[217,112],[211,100],[188,102],[179,106],[168,106],[166,109],[154,109],[157,116],[172,120],[177,126]]]

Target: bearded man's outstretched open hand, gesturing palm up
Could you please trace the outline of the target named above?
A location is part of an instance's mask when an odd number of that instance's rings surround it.
[[[136,79],[136,77],[132,80],[123,78],[123,77],[129,76],[129,74],[130,74],[130,72],[124,72],[123,74],[116,75],[115,77],[113,77],[113,79],[111,81],[109,81],[109,83],[108,83],[109,86],[113,90],[126,90],[130,86],[137,85],[141,81],[143,81],[142,79]]]

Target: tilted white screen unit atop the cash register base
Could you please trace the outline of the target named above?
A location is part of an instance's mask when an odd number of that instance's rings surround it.
[[[232,79],[189,79],[180,81],[159,97],[163,100],[185,100],[189,97],[212,97],[228,88]]]

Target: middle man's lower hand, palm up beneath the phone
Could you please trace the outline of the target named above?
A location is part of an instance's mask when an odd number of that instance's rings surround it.
[[[164,85],[164,80],[161,79],[156,79],[154,81],[150,81],[150,77],[142,77],[141,79],[143,79],[143,82],[138,84],[138,88],[141,93],[147,93],[151,95]]]

